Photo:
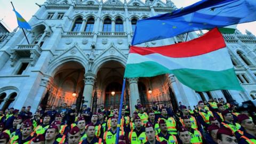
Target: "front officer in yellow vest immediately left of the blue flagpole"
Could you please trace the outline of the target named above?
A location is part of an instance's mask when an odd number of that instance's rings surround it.
[[[116,132],[117,132],[117,117],[113,116],[111,117],[111,128],[107,130],[103,134],[103,140],[106,144],[112,144],[116,141]],[[120,129],[119,135],[124,135],[124,130]]]

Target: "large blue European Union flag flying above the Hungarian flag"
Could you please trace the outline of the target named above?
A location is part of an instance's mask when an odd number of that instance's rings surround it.
[[[132,45],[255,20],[256,1],[203,0],[171,13],[139,20]]]

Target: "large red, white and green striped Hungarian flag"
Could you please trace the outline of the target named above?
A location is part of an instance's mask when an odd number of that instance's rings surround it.
[[[243,91],[217,28],[189,42],[130,47],[124,77],[152,77],[167,73],[174,74],[182,84],[199,92]]]

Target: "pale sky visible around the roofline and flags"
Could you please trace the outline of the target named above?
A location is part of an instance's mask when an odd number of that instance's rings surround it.
[[[39,9],[39,7],[35,3],[43,4],[45,1],[46,0],[12,0],[15,10],[17,10],[22,15],[22,17],[24,19],[26,19],[27,21]],[[163,0],[163,1],[165,1],[165,0]],[[188,6],[188,5],[198,2],[198,1],[199,0],[172,0],[172,2],[178,8]],[[17,20],[15,17],[15,14],[12,11],[12,6],[11,6],[10,2],[11,2],[10,0],[0,0],[0,10],[1,10],[0,21],[3,21],[4,24],[7,26],[7,28],[10,31],[12,31],[18,25],[17,25]],[[256,22],[249,22],[249,23],[239,24],[237,26],[237,28],[242,33],[244,33],[244,31],[247,29],[247,30],[251,31],[254,35],[256,35],[255,26],[256,26]]]

